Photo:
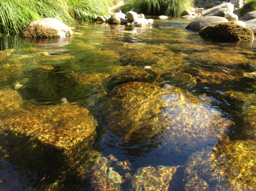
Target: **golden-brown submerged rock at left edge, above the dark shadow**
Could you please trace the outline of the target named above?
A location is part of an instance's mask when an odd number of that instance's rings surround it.
[[[19,132],[65,149],[71,149],[84,139],[91,140],[96,135],[97,121],[85,108],[62,103],[54,106],[31,105],[26,109],[15,90],[2,90],[0,96],[0,108],[5,112],[5,118],[0,120],[1,132]]]

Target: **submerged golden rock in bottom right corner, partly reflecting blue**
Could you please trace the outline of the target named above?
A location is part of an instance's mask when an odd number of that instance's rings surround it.
[[[253,190],[256,188],[255,141],[220,142],[192,154],[184,165],[185,190]]]

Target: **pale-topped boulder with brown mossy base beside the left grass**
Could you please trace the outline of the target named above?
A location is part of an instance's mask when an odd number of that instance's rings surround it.
[[[25,38],[66,38],[72,34],[72,30],[66,24],[55,18],[34,21],[20,32],[20,35]]]

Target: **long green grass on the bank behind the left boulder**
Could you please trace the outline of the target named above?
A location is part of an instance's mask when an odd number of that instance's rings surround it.
[[[113,0],[0,0],[0,36],[16,35],[26,25],[51,17],[65,24],[108,15]]]

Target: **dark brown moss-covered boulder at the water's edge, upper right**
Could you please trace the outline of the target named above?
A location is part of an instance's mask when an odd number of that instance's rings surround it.
[[[199,35],[211,38],[228,39],[232,41],[253,41],[253,31],[235,22],[218,23],[204,27]]]

